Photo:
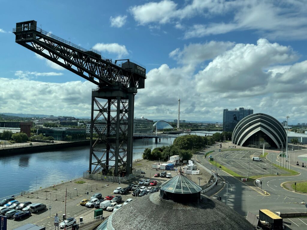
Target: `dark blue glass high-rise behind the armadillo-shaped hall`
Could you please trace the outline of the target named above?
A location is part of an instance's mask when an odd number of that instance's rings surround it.
[[[234,110],[223,110],[223,131],[233,132],[235,126],[241,121],[244,117],[254,113],[253,109],[244,109],[239,108]]]

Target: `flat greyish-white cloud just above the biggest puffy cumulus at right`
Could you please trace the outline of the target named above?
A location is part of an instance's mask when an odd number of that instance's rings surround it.
[[[169,56],[182,64],[197,65],[210,60],[232,48],[234,42],[210,41],[203,44],[195,43],[185,45],[181,51],[179,48],[169,53]]]

